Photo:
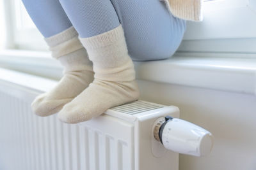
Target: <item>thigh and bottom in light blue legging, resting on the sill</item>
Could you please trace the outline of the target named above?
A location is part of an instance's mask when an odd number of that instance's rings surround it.
[[[170,15],[159,0],[111,0],[124,27],[132,60],[171,57],[180,45],[186,22]]]

